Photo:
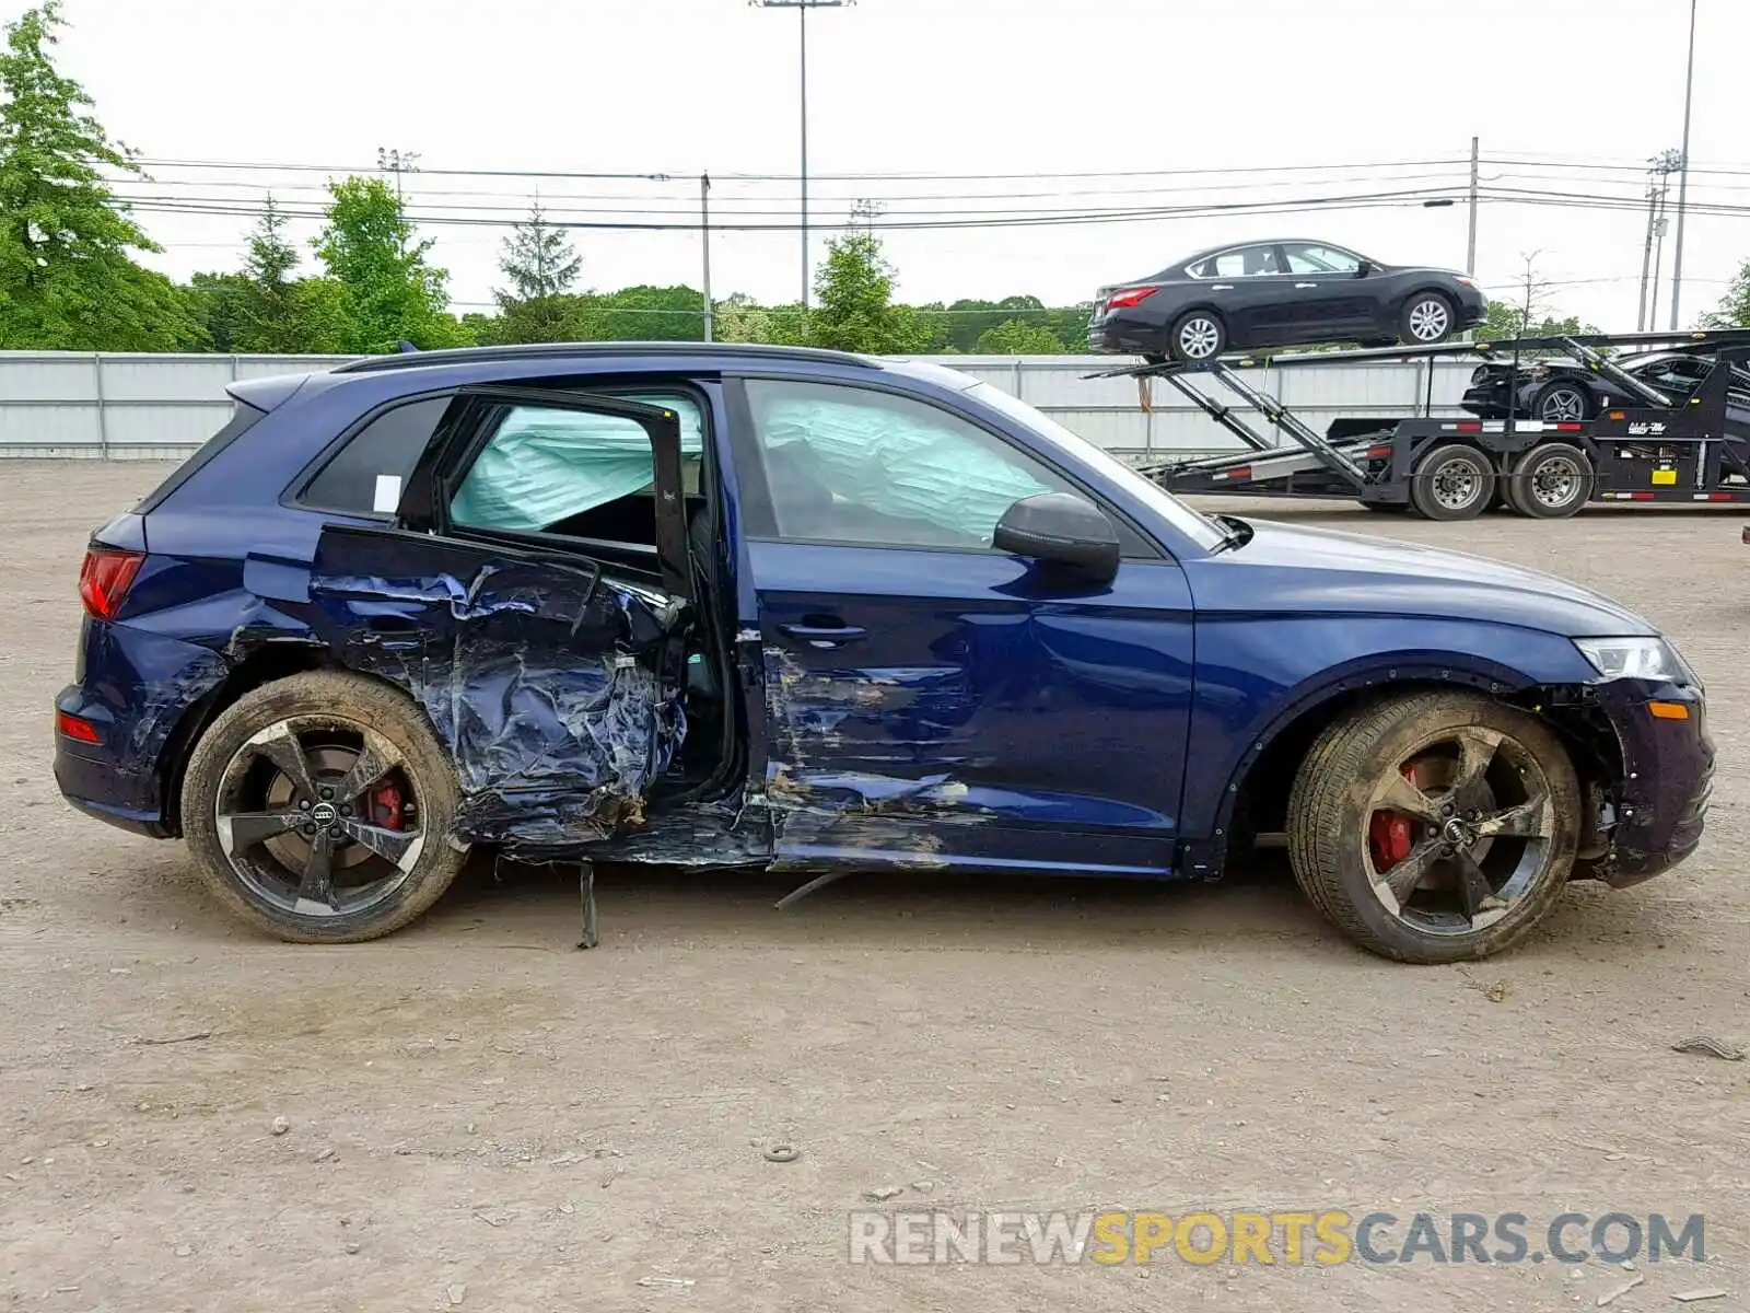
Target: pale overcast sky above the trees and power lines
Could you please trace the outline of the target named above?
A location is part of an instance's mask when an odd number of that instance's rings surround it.
[[[0,0],[9,18],[21,9]],[[406,180],[416,212],[506,219],[500,207],[539,187],[551,208],[607,222],[691,222],[696,175],[709,170],[718,217],[794,221],[794,180],[732,177],[796,173],[794,12],[744,0],[66,0],[65,9],[63,68],[91,91],[110,131],[149,159],[345,170],[371,165],[378,147],[399,147],[416,151],[425,170]],[[1699,12],[1690,158],[1698,170],[1736,172],[1692,175],[1690,200],[1746,208],[1690,214],[1685,322],[1750,257],[1750,0],[1699,0]],[[926,210],[1451,194],[1465,186],[1472,135],[1486,161],[1533,161],[1486,163],[1486,186],[1633,201],[1643,161],[1682,137],[1687,23],[1689,0],[859,0],[808,19],[817,221],[842,224],[858,198],[882,201],[898,222]],[[1396,161],[1438,163],[1370,168]],[[1290,166],[1302,172],[1279,172]],[[1132,177],[1026,177],[1097,172]],[[266,184],[289,205],[313,205],[326,177],[152,173],[159,186],[131,191],[245,207]],[[166,247],[156,263],[177,277],[234,268],[250,226],[245,215],[140,219]],[[886,236],[905,299],[1032,292],[1071,303],[1194,249],[1251,236],[1323,236],[1384,261],[1463,268],[1465,228],[1463,203],[1412,200]],[[298,235],[313,231],[301,224]],[[502,229],[430,226],[427,235],[453,273],[455,308],[485,308],[500,282]],[[1479,277],[1510,284],[1522,257],[1538,252],[1556,308],[1631,329],[1643,235],[1640,208],[1489,201]],[[579,231],[576,240],[592,287],[698,284],[696,233]],[[1671,254],[1668,238],[1666,273]],[[798,294],[794,233],[718,233],[712,264],[718,296]],[[1666,282],[1661,303],[1668,298]]]

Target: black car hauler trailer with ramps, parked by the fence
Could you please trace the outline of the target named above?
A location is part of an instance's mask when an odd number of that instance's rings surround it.
[[[1670,396],[1614,362],[1603,350],[1610,347],[1670,348],[1712,357],[1713,368],[1694,392]],[[1321,434],[1246,376],[1262,366],[1475,355],[1512,362],[1507,396],[1517,397],[1521,359],[1547,352],[1578,361],[1606,378],[1619,396],[1589,420],[1339,418]],[[1160,378],[1248,448],[1143,467],[1171,492],[1353,497],[1368,509],[1412,511],[1430,520],[1466,520],[1500,504],[1554,520],[1589,501],[1750,502],[1750,397],[1732,387],[1746,359],[1750,329],[1727,329],[1169,361],[1092,376]],[[1211,376],[1288,441],[1258,432],[1242,411],[1192,387],[1190,375]]]

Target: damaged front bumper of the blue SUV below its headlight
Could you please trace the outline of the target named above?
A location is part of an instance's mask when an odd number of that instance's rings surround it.
[[[1713,795],[1713,739],[1699,688],[1612,679],[1596,685],[1596,697],[1622,751],[1622,777],[1603,800],[1605,853],[1586,874],[1620,889],[1696,851]],[[1654,716],[1654,702],[1682,706],[1687,716]]]

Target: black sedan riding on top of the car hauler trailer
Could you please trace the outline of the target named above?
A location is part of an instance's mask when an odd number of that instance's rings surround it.
[[[1488,298],[1463,273],[1381,264],[1330,242],[1250,242],[1101,287],[1088,347],[1211,361],[1323,341],[1428,345],[1480,324],[1486,310]]]

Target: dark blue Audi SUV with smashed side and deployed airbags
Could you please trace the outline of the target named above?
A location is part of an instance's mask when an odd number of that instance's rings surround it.
[[[1208,516],[966,375],[770,347],[233,385],[91,539],[56,779],[298,942],[472,849],[1209,881],[1454,961],[1698,844],[1703,686],[1488,560]]]

